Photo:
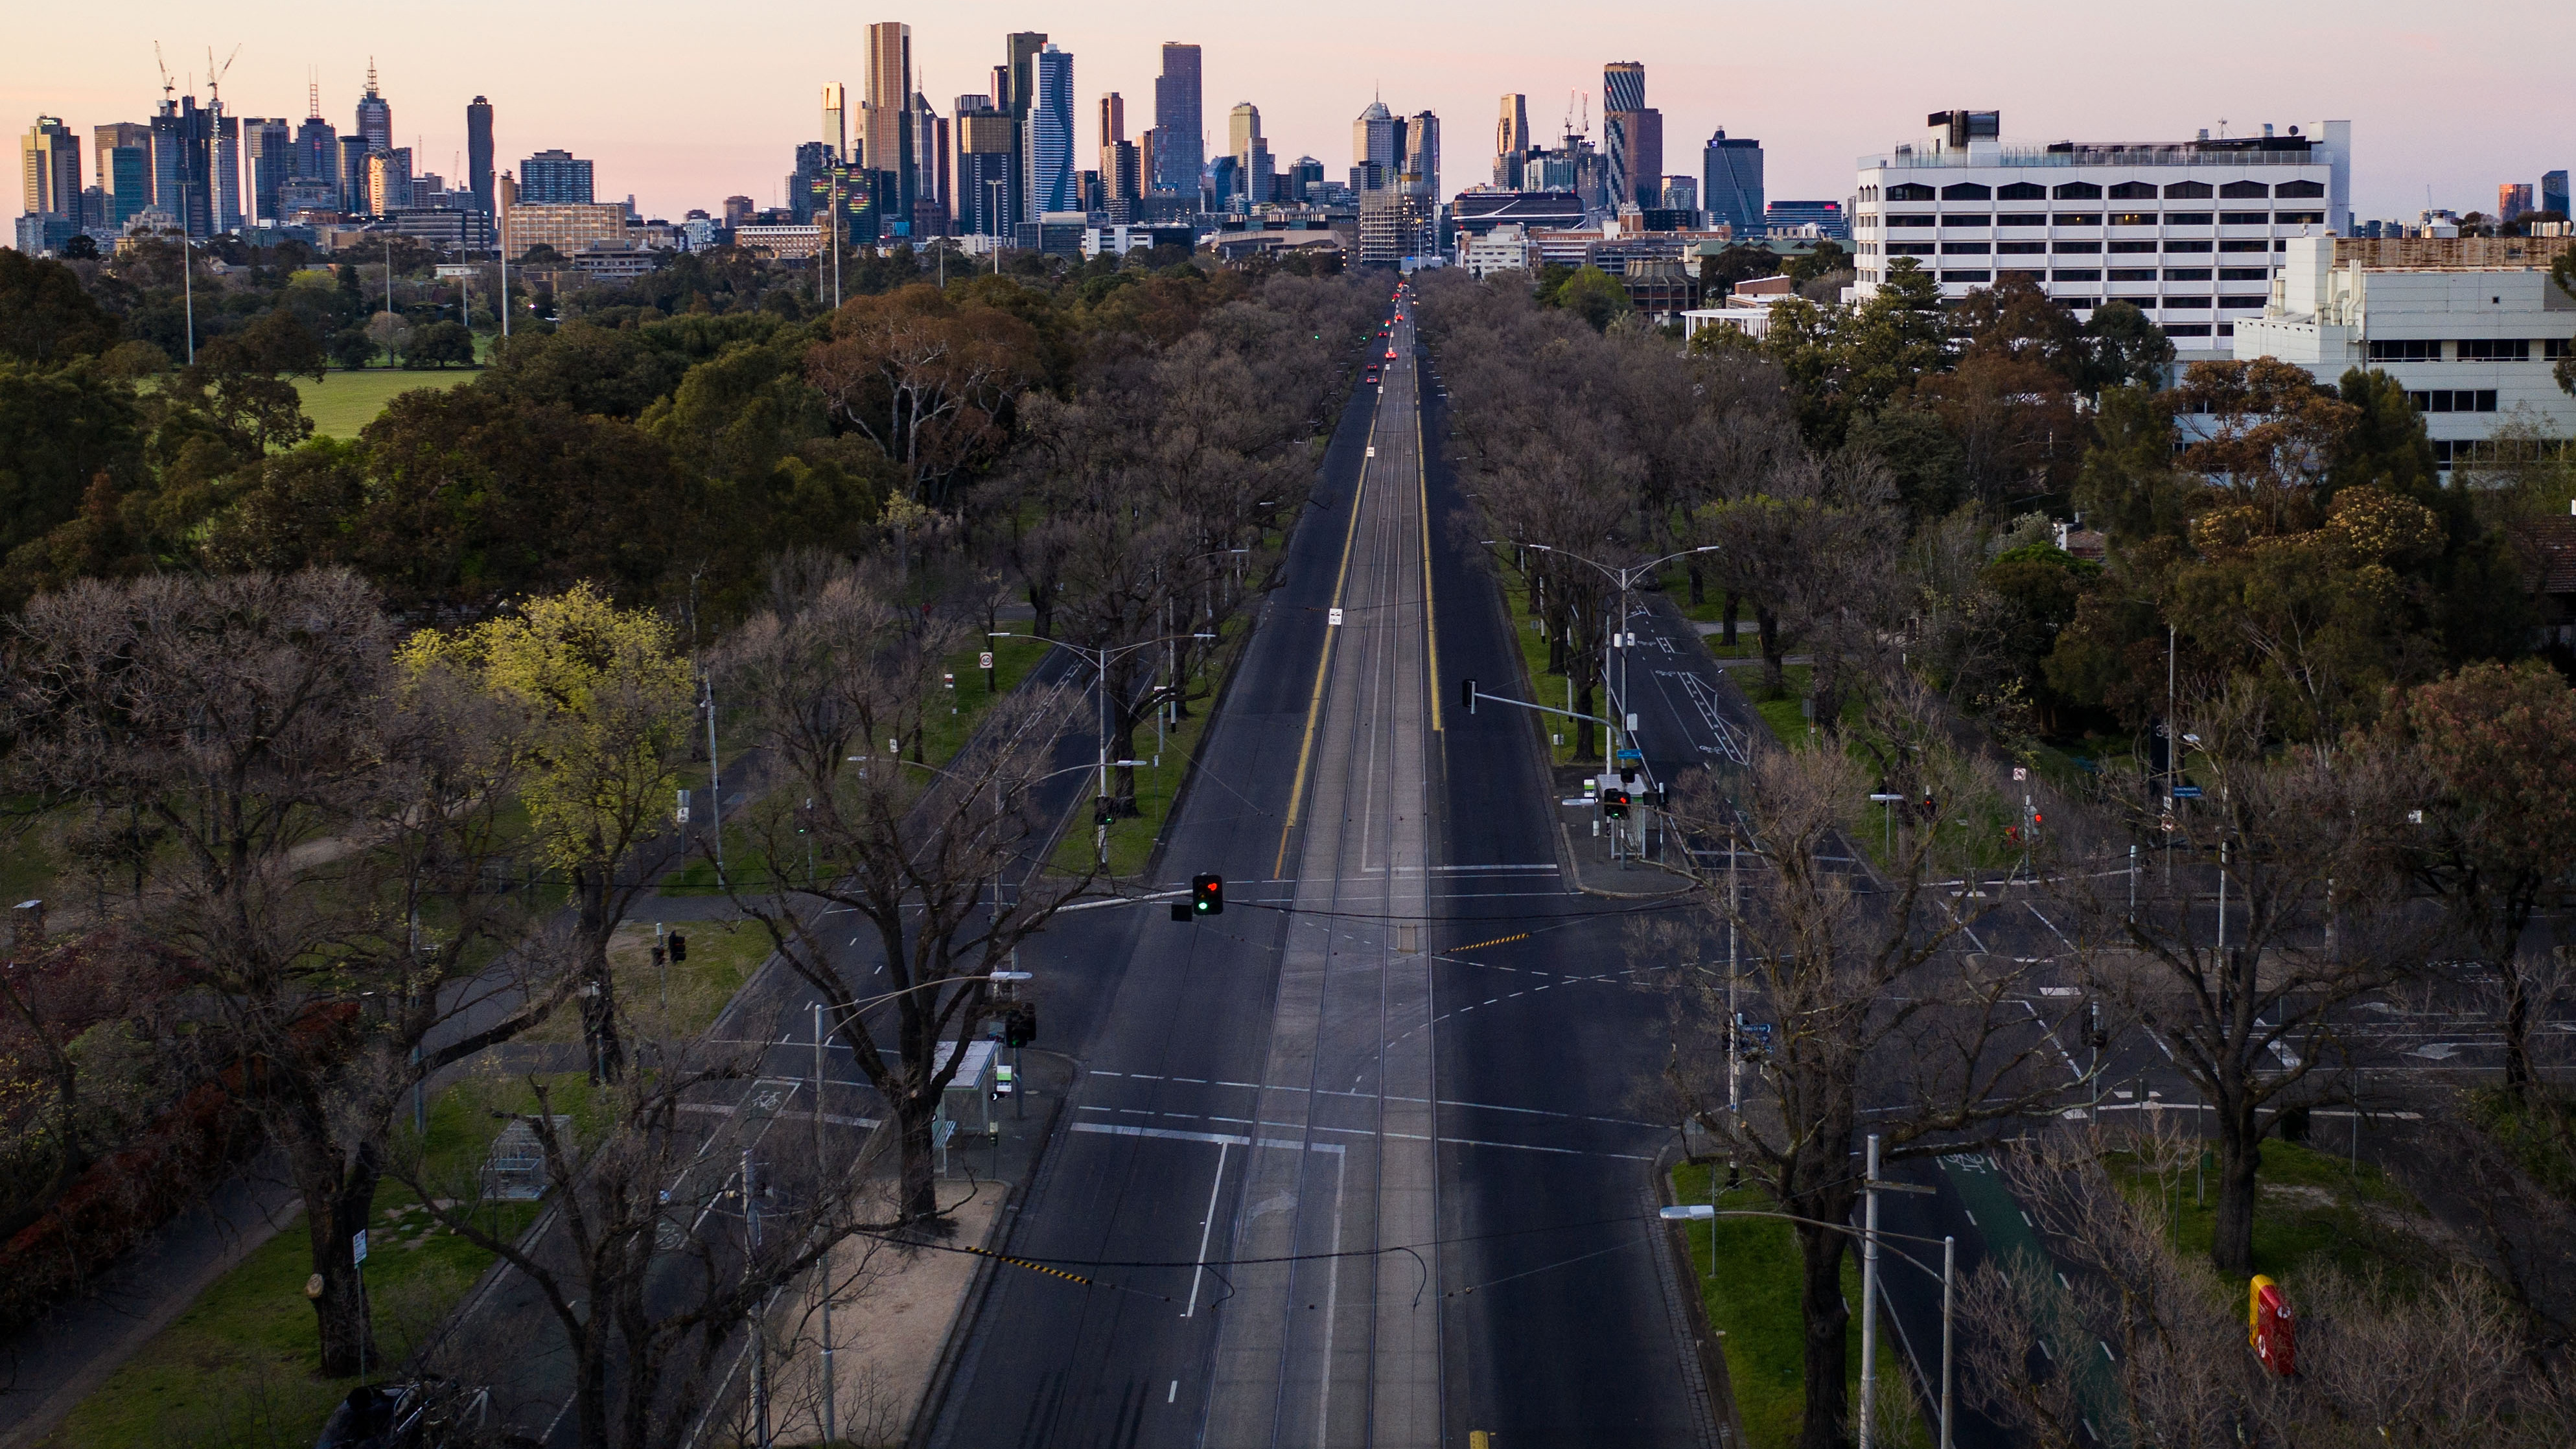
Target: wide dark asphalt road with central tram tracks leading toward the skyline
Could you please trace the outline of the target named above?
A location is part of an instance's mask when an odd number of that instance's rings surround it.
[[[1394,353],[1394,358],[1386,358]],[[1571,891],[1412,319],[1170,826],[1226,914],[1025,952],[1084,1073],[935,1441],[1708,1444],[1651,1228],[1662,1004]],[[1340,610],[1340,615],[1334,615]]]

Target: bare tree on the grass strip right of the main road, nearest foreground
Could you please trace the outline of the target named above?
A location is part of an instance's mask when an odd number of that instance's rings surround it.
[[[1860,1171],[1862,1107],[1883,1161],[1958,1150],[1991,1125],[2050,1102],[2043,1022],[2017,1001],[2014,963],[1976,955],[1971,934],[1991,901],[1976,896],[1971,824],[1991,785],[1927,734],[1922,700],[1891,685],[1870,715],[1904,739],[1891,785],[1924,800],[1883,872],[1850,870],[1870,780],[1839,746],[1765,752],[1744,780],[1741,816],[1705,777],[1685,777],[1677,824],[1703,842],[1695,906],[1708,927],[1741,934],[1747,1009],[1775,1019],[1741,1112],[1728,1112],[1728,983],[1698,955],[1674,1001],[1669,1081],[1728,1158],[1798,1217],[1806,1325],[1806,1449],[1844,1441],[1842,1256]],[[1741,883],[1731,891],[1726,854]],[[1700,937],[1703,942],[1708,937]],[[1705,950],[1705,945],[1700,947]]]

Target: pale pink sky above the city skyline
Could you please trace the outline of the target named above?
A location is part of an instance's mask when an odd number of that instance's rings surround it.
[[[129,0],[113,18],[80,5],[21,5],[0,59],[0,116],[23,134],[39,113],[82,136],[144,121],[160,98],[152,41],[204,95],[206,46],[240,44],[224,98],[242,116],[304,116],[304,80],[348,129],[368,57],[399,142],[422,170],[456,178],[464,106],[497,108],[500,165],[541,147],[598,162],[600,198],[634,193],[647,216],[716,208],[729,193],[778,198],[796,142],[817,131],[822,82],[853,108],[876,18],[912,23],[917,85],[945,113],[984,90],[1002,36],[1046,31],[1074,51],[1079,149],[1090,165],[1095,100],[1126,95],[1128,129],[1151,124],[1159,44],[1206,49],[1206,136],[1226,139],[1236,100],[1262,108],[1280,162],[1350,165],[1350,118],[1383,85],[1399,111],[1437,111],[1443,188],[1486,178],[1497,98],[1530,98],[1548,134],[1569,93],[1592,98],[1600,67],[1646,62],[1664,111],[1664,170],[1698,175],[1700,142],[1726,126],[1757,136],[1770,196],[1842,198],[1852,157],[1914,139],[1927,111],[2002,108],[2007,139],[2187,139],[2226,121],[2349,118],[2354,211],[2411,219],[2427,203],[2488,211],[2499,180],[2537,183],[2576,165],[2576,5],[2566,0],[2179,0],[2151,10],[2074,3],[1947,8],[1850,0],[1793,5],[1628,3],[1595,10],[1530,0],[1211,8],[992,5],[948,0],[914,13],[814,0],[706,8],[667,0],[556,8],[464,0],[435,10],[214,8]],[[82,180],[95,180],[82,167]],[[15,214],[10,193],[8,211]]]

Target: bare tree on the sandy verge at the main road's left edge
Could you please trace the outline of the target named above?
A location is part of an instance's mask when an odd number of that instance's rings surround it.
[[[1033,870],[1054,839],[1030,785],[1064,723],[1056,695],[1002,700],[938,770],[873,749],[943,695],[940,661],[958,633],[850,569],[755,615],[724,661],[778,770],[744,824],[757,865],[732,870],[726,888],[827,1004],[832,1035],[894,1109],[904,1220],[940,1212],[933,1120],[963,1063],[963,1032],[992,1006],[992,973],[1090,883]],[[873,927],[884,975],[855,978],[871,986],[842,973],[827,911]],[[873,1029],[878,1006],[894,1017],[891,1050]]]

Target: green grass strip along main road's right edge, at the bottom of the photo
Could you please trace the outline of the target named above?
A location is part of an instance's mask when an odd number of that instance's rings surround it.
[[[1682,1163],[1672,1171],[1677,1202],[1708,1202],[1718,1163]],[[1767,1210],[1757,1186],[1718,1194],[1718,1207]],[[1710,1228],[1716,1233],[1710,1235]],[[1726,1377],[1736,1390],[1736,1416],[1749,1449],[1790,1449],[1806,1413],[1806,1328],[1798,1318],[1798,1241],[1788,1223],[1770,1217],[1721,1217],[1690,1223],[1690,1261],[1700,1269],[1700,1302],[1708,1325],[1726,1346]],[[1842,1300],[1855,1305],[1844,1336],[1844,1403],[1860,1398],[1860,1256],[1842,1259]],[[1880,1320],[1880,1395],[1906,1385],[1904,1354]],[[1886,1398],[1880,1400],[1886,1403]],[[1886,1444],[1922,1446],[1922,1413],[1888,1416]]]

